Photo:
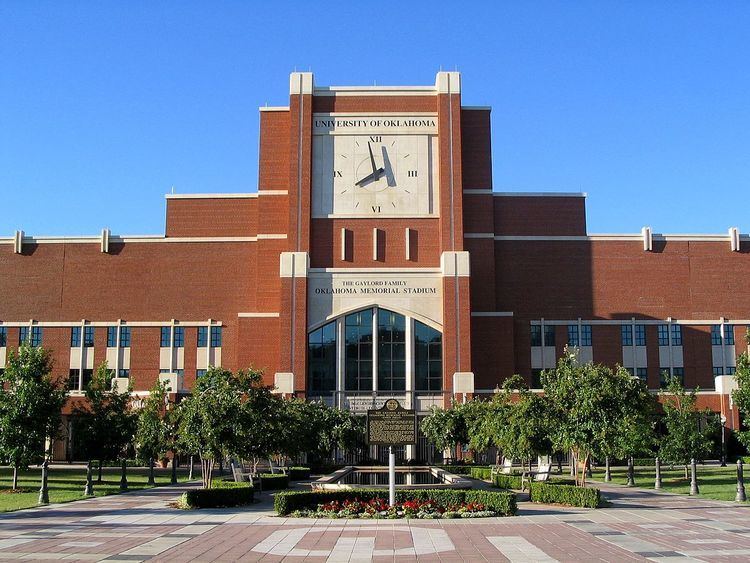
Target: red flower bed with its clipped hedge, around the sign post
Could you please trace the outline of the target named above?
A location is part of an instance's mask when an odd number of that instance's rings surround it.
[[[510,492],[481,490],[399,490],[388,506],[388,492],[283,491],[274,498],[279,515],[312,518],[480,518],[511,516],[516,497]]]

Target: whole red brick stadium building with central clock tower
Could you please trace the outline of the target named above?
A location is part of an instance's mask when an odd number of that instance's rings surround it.
[[[252,365],[281,393],[425,411],[538,386],[570,345],[652,389],[669,371],[737,424],[747,235],[590,235],[585,194],[494,192],[490,109],[455,72],[293,73],[260,123],[257,192],[167,195],[164,236],[1,238],[0,367],[30,338],[71,401],[106,360],[138,393]]]

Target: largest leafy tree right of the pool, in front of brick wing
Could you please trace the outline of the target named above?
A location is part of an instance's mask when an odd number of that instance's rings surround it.
[[[593,363],[581,364],[577,354],[566,350],[554,370],[542,374],[549,401],[552,443],[573,452],[576,484],[585,486],[586,467],[592,455],[601,455],[622,444],[632,397],[626,392],[634,383],[625,370]]]

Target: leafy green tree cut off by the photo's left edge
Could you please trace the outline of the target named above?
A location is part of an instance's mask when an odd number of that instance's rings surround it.
[[[13,466],[13,489],[18,470],[41,461],[59,432],[66,391],[51,372],[49,352],[24,343],[0,374],[0,458]]]

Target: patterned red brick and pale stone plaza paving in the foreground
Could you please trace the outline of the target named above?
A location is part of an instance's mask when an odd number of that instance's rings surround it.
[[[750,507],[601,484],[612,507],[521,503],[516,518],[279,518],[249,508],[170,508],[160,487],[0,515],[0,560],[747,561]]]

